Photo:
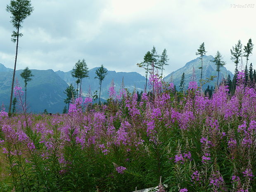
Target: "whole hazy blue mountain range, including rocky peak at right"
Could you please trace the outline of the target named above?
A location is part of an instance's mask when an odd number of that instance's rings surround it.
[[[216,66],[213,62],[213,56],[204,56],[203,57],[203,79],[218,75],[216,71]],[[187,62],[185,66],[170,73],[168,76],[164,78],[164,81],[170,82],[172,81],[176,87],[178,88],[180,85],[180,78],[182,73],[185,73],[185,88],[187,88],[188,83],[190,81],[190,77],[192,76],[192,69],[194,67],[195,75],[197,77],[197,81],[199,81],[201,69],[201,59],[196,58],[190,62]],[[92,68],[89,70],[89,77],[83,78],[82,80],[82,95],[88,95],[89,89],[90,92],[93,93],[97,90],[99,92],[99,80],[95,79],[95,71],[98,67]],[[24,89],[24,81],[20,76],[23,70],[17,70],[15,78],[19,81],[19,84]],[[64,106],[64,99],[66,95],[64,90],[70,85],[73,84],[76,88],[76,78],[71,76],[71,71],[53,71],[52,69],[48,70],[36,70],[31,69],[32,81],[28,82],[27,85],[27,102],[28,106],[30,106],[30,111],[32,113],[40,113],[47,109],[48,112],[51,113],[62,113]],[[13,69],[6,68],[3,64],[0,64],[0,102],[5,105],[5,108],[8,108],[9,105],[9,96],[11,92],[11,83],[12,83],[12,73]],[[221,67],[220,69],[220,77],[219,82],[225,76],[230,74],[232,78],[232,73],[228,71],[225,67]],[[105,101],[108,98],[108,90],[111,82],[114,81],[116,91],[118,92],[121,88],[122,83],[125,88],[129,92],[133,92],[134,90],[141,92],[145,89],[145,81],[146,78],[140,75],[137,72],[116,72],[116,71],[107,71],[107,76],[102,81],[102,90],[101,90],[101,98],[102,101]],[[205,88],[207,85],[215,85],[216,78],[204,85]]]

